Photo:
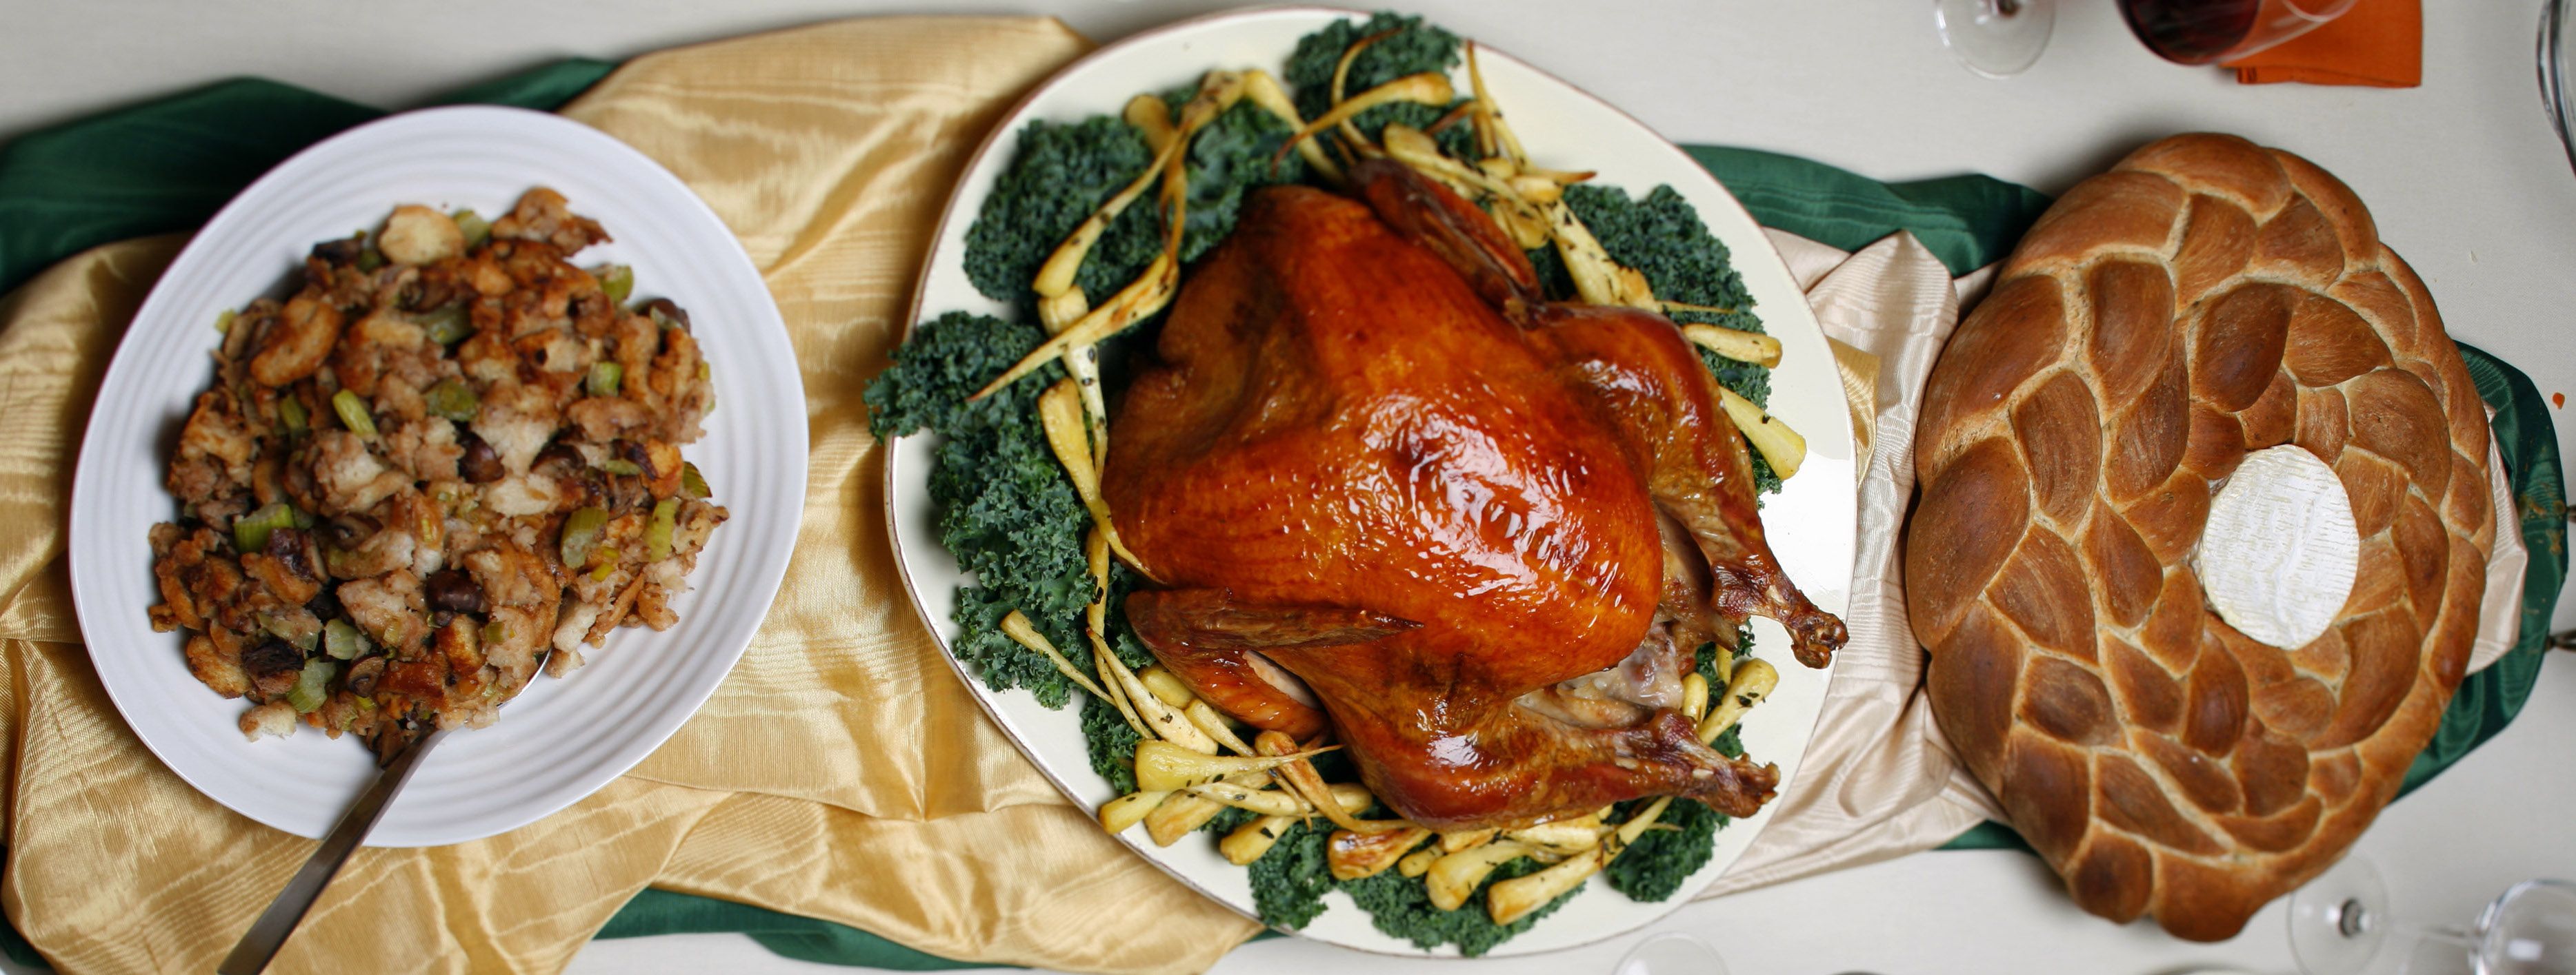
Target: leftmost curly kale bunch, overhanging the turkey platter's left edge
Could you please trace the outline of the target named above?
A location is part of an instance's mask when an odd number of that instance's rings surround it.
[[[1046,365],[966,401],[1043,340],[1033,324],[951,311],[922,322],[860,399],[878,437],[920,430],[943,437],[930,502],[940,545],[974,576],[958,587],[951,615],[958,659],[992,689],[1028,687],[1046,707],[1064,707],[1072,682],[999,630],[1020,610],[1059,648],[1084,646],[1077,641],[1092,597],[1082,553],[1090,512],[1046,445],[1036,409],[1038,391],[1064,378],[1064,368]]]

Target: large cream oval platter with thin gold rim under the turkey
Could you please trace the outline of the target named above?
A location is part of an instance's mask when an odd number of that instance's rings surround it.
[[[1118,113],[1136,93],[1195,82],[1198,75],[1218,67],[1260,67],[1278,75],[1288,62],[1288,51],[1296,49],[1296,39],[1337,18],[1365,18],[1365,13],[1329,8],[1221,13],[1105,46],[1048,80],[994,126],[976,159],[966,167],[963,180],[958,180],[930,252],[930,268],[922,273],[914,296],[914,322],[953,309],[997,316],[1012,314],[1007,306],[984,298],[966,280],[966,226],[974,224],[984,196],[992,193],[994,178],[1010,165],[1018,134],[1030,118],[1079,121],[1097,113]],[[1455,31],[1461,26],[1450,23],[1448,28]],[[1857,525],[1850,414],[1842,401],[1834,358],[1824,345],[1824,332],[1816,327],[1816,316],[1808,311],[1788,265],[1780,262],[1770,239],[1762,237],[1762,226],[1744,214],[1744,206],[1708,170],[1700,170],[1682,149],[1674,149],[1636,118],[1494,49],[1479,49],[1479,64],[1494,100],[1512,113],[1512,129],[1520,134],[1533,162],[1558,170],[1600,170],[1600,183],[1620,185],[1638,196],[1667,183],[1700,211],[1700,221],[1734,252],[1734,265],[1744,273],[1744,286],[1754,296],[1754,311],[1762,314],[1762,324],[1783,345],[1780,368],[1772,373],[1770,409],[1803,432],[1808,445],[1806,466],[1798,476],[1788,481],[1785,491],[1765,499],[1762,522],[1770,527],[1772,551],[1790,579],[1819,607],[1839,615],[1850,602],[1852,530]],[[1466,90],[1463,69],[1458,72],[1458,90]],[[1188,278],[1182,280],[1188,286]],[[922,623],[938,633],[940,646],[948,646],[958,635],[948,612],[956,605],[956,587],[963,576],[956,558],[940,548],[938,512],[927,494],[933,450],[935,445],[927,435],[896,442],[886,460],[886,497],[904,584],[912,589],[912,602],[922,612]],[[1806,751],[1808,733],[1816,725],[1816,710],[1824,705],[1824,684],[1832,671],[1814,671],[1790,661],[1788,633],[1770,620],[1754,620],[1754,653],[1780,664],[1780,689],[1744,723],[1744,749],[1759,761],[1777,761],[1780,787],[1788,790],[1788,782],[1798,774],[1798,756]],[[951,664],[956,664],[956,656],[951,656]],[[1079,710],[1074,705],[1046,710],[1020,689],[989,692],[963,666],[961,677],[974,687],[984,710],[992,713],[1002,731],[1020,743],[1020,751],[1066,797],[1084,808],[1097,808],[1113,797],[1108,782],[1090,769],[1082,749]],[[1726,864],[1752,844],[1754,831],[1765,821],[1770,821],[1767,808],[1754,818],[1718,831],[1716,857],[1672,900],[1636,903],[1605,882],[1592,882],[1528,934],[1499,944],[1489,954],[1530,954],[1633,931],[1669,913],[1726,872]],[[1128,828],[1121,839],[1172,877],[1244,916],[1255,916],[1244,867],[1234,867],[1218,857],[1213,836],[1154,846],[1144,839],[1141,828]],[[1368,913],[1342,893],[1327,895],[1327,906],[1314,924],[1291,934],[1370,952],[1425,954],[1412,942],[1399,942],[1373,929]],[[1455,947],[1432,954],[1455,954]]]

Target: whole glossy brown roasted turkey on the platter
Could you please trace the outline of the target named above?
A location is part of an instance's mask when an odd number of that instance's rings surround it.
[[[1680,329],[1548,304],[1471,203],[1394,162],[1267,188],[1118,404],[1126,615],[1200,697],[1432,828],[1641,795],[1754,813],[1680,682],[1747,615],[1824,666],[1842,620],[1762,538],[1744,437]]]

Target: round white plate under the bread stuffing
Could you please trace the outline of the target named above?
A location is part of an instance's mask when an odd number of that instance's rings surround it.
[[[247,705],[198,684],[180,633],[152,633],[144,615],[160,602],[147,533],[178,515],[162,478],[214,381],[214,316],[281,296],[314,242],[379,226],[397,203],[500,216],[536,185],[616,237],[574,260],[634,265],[636,296],[688,309],[716,412],[685,455],[732,520],[672,602],[680,625],[616,630],[587,666],[502,705],[492,728],[451,736],[368,844],[482,839],[608,785],[706,702],[778,594],[804,512],[804,386],[778,306],[724,221],[641,152],[536,111],[433,108],[325,139],[224,206],[152,288],[98,386],[72,478],[72,599],[108,697],[152,754],[242,816],[322,836],[376,767],[358,738],[314,728],[242,741]]]

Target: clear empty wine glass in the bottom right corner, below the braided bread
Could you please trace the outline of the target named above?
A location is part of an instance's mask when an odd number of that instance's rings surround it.
[[[2393,924],[2388,885],[2360,857],[2290,895],[2290,954],[2308,975],[2362,972],[2391,934],[2411,936],[2401,975],[2576,975],[2576,882],[2517,882],[2470,926]]]

